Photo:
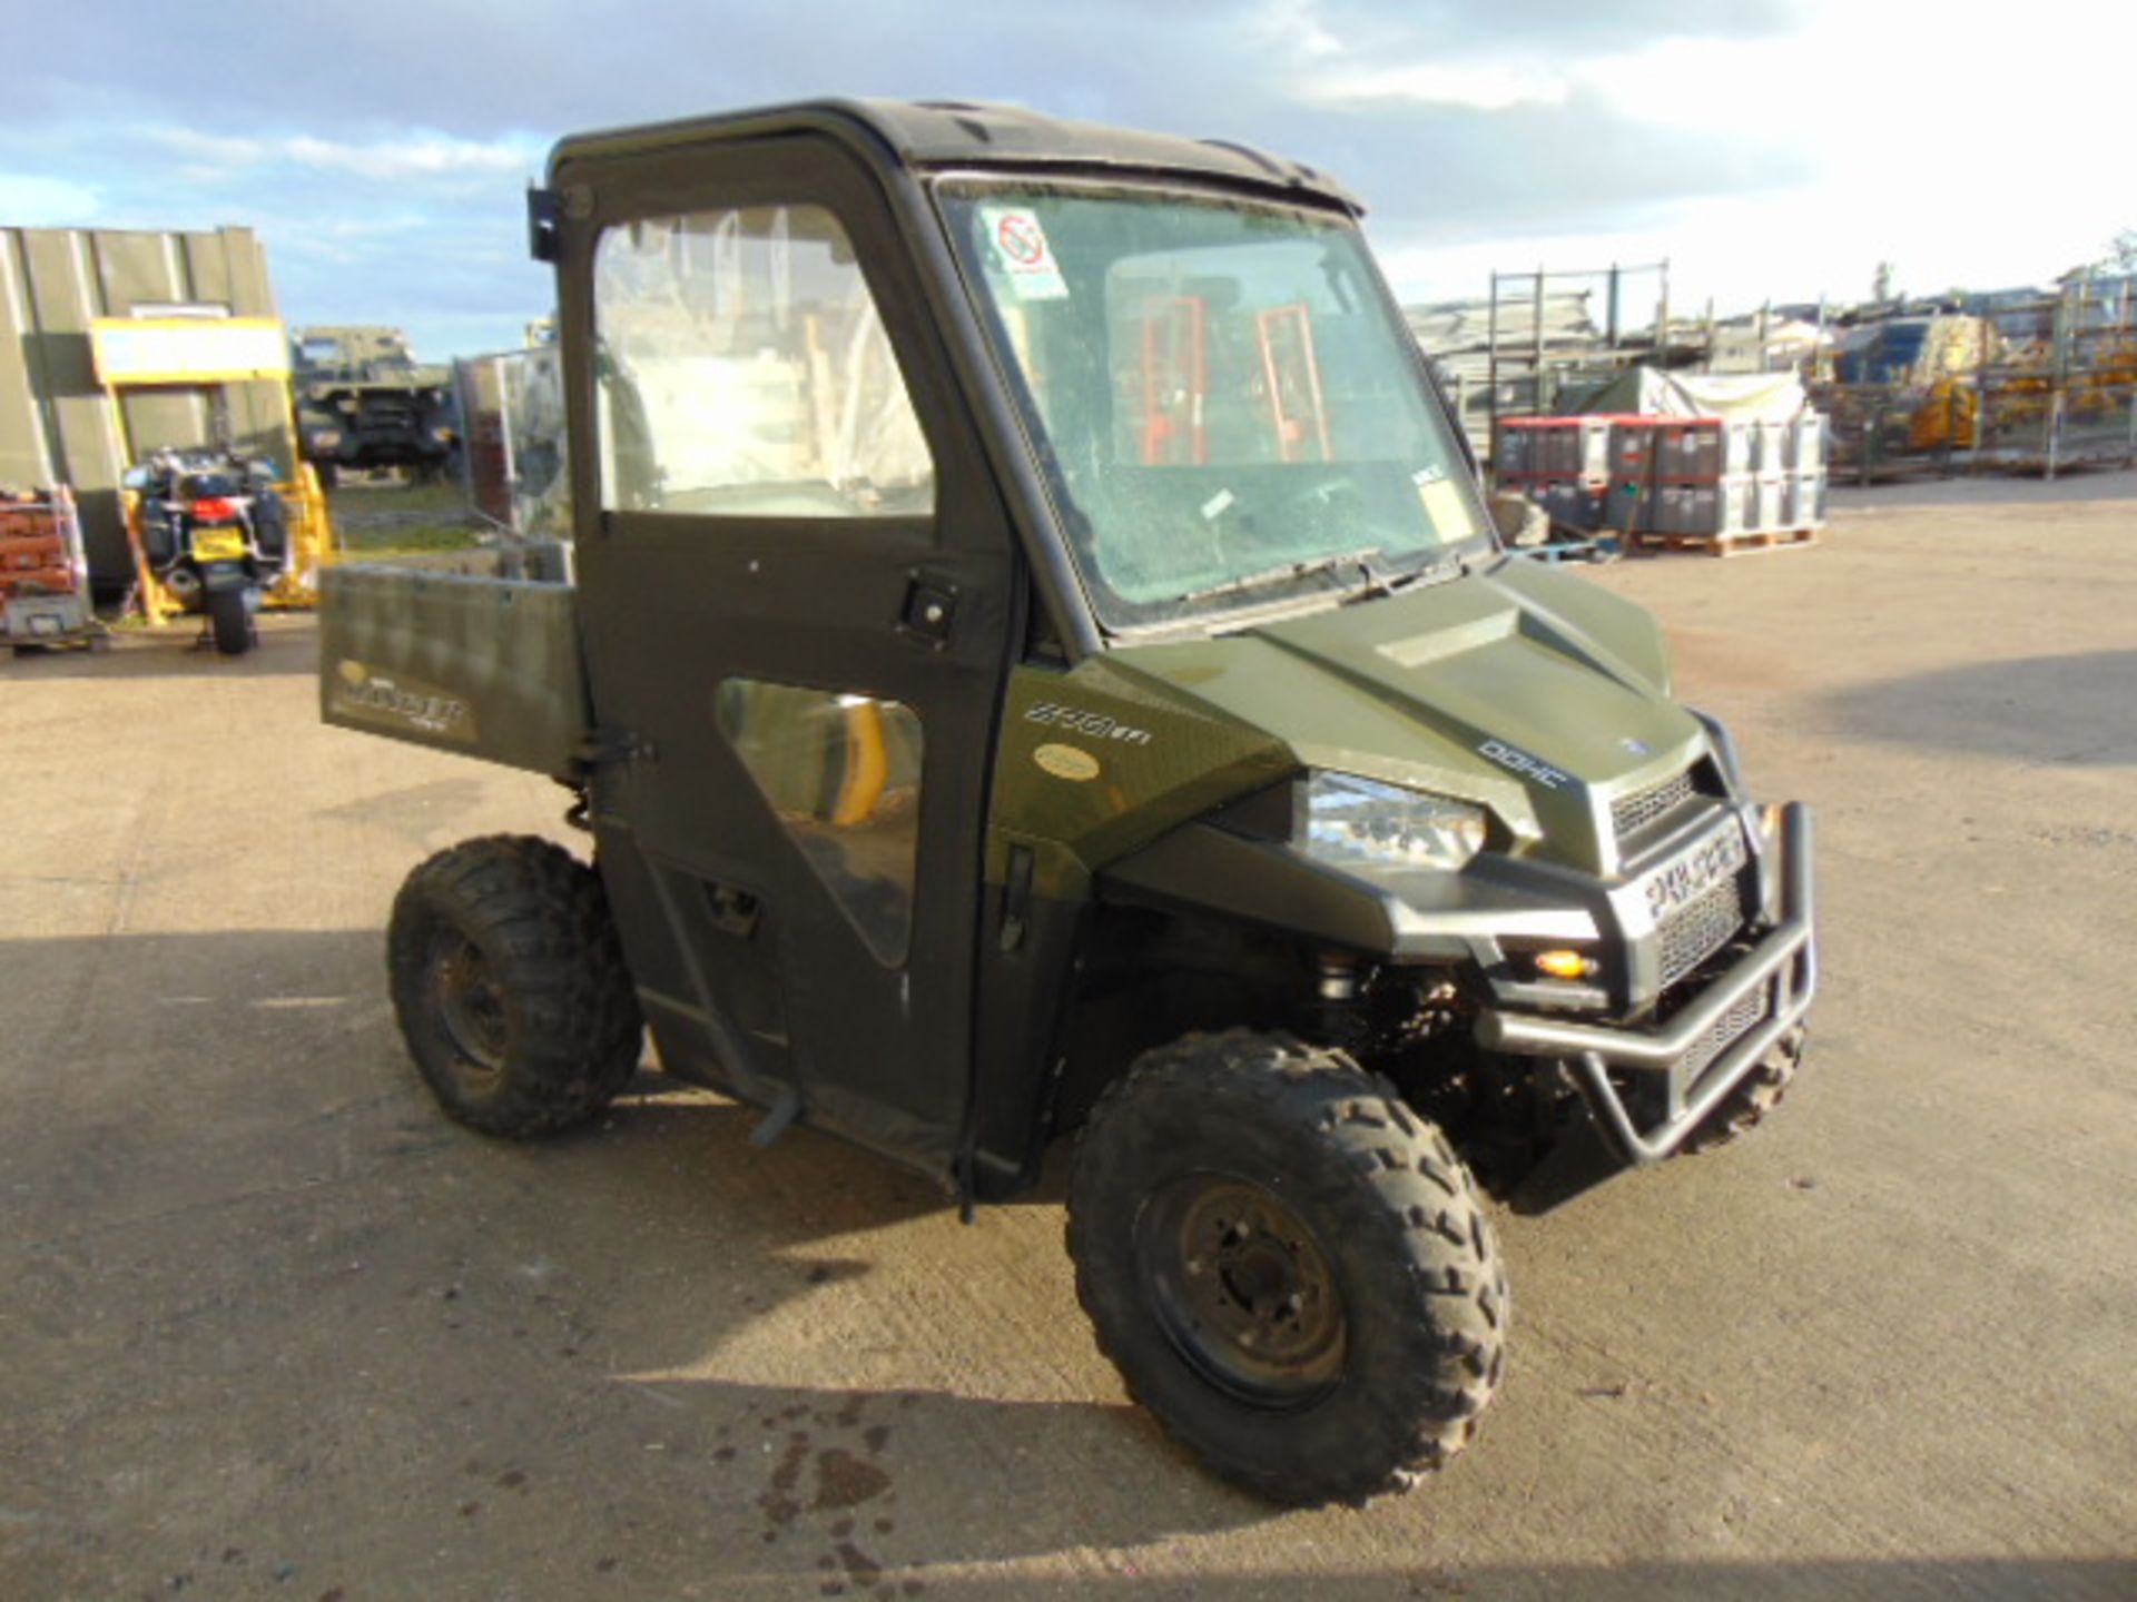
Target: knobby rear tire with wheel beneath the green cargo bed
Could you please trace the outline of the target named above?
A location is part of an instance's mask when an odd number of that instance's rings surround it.
[[[387,972],[408,1055],[468,1128],[549,1134],[637,1072],[643,1021],[600,878],[547,839],[468,839],[417,867]]]

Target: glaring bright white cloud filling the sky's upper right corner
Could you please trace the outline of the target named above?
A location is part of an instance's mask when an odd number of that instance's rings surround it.
[[[2026,38],[2064,45],[2052,68],[2002,49],[2007,4],[1947,0],[1934,28],[1921,15],[1913,0],[1806,0],[1793,28],[1761,36],[1656,30],[1645,43],[1554,53],[1515,36],[1425,64],[1346,49],[1297,64],[1291,92],[1344,109],[1592,105],[1656,135],[1635,147],[1643,160],[1667,162],[1675,145],[1697,164],[1718,139],[1767,152],[1712,192],[1607,220],[1586,207],[1579,220],[1524,218],[1496,237],[1460,218],[1438,244],[1398,235],[1389,276],[1417,297],[1483,293],[1492,267],[1663,256],[1680,310],[1710,295],[1722,312],[1821,290],[1857,299],[1878,261],[1896,263],[1910,293],[2002,288],[2047,282],[2137,226],[2137,201],[2113,179],[2128,143],[2137,6],[2030,0]],[[1577,169],[1577,147],[1562,156]]]

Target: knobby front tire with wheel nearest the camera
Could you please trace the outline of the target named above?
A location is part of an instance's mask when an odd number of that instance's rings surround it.
[[[1272,1502],[1413,1485],[1498,1386],[1507,1279],[1468,1168],[1340,1051],[1145,1053],[1077,1143],[1068,1256],[1128,1395]]]

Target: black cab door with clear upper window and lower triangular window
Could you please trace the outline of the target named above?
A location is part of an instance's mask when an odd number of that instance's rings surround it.
[[[1009,523],[827,137],[558,173],[592,827],[667,1068],[955,1162]]]

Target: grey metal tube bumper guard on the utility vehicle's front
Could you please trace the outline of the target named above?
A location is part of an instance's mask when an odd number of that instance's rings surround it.
[[[1810,910],[1810,810],[1789,803],[1772,844],[1772,874],[1780,880],[1774,927],[1744,957],[1718,974],[1693,1002],[1656,1030],[1560,1023],[1532,1012],[1487,1010],[1477,1019],[1477,1042],[1517,1057],[1560,1057],[1573,1072],[1611,1149],[1628,1164],[1671,1156],[1722,1104],[1759,1059],[1801,1023],[1819,987]],[[1772,880],[1769,880],[1772,882]],[[1757,1021],[1705,1051],[1744,1010]],[[1611,1070],[1652,1077],[1663,1115],[1639,1128]],[[1645,1098],[1656,1100],[1656,1098]]]

